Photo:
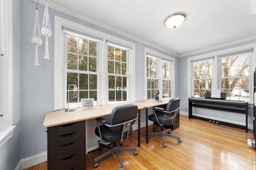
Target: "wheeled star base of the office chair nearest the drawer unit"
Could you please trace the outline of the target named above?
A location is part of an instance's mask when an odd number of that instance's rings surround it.
[[[112,153],[114,153],[114,154],[116,154],[116,157],[118,158],[118,161],[119,161],[119,163],[120,163],[120,168],[119,168],[119,170],[123,170],[124,168],[123,168],[123,162],[122,162],[122,160],[121,160],[121,158],[120,158],[120,156],[119,156],[119,154],[118,154],[118,150],[119,151],[122,151],[122,150],[133,150],[133,154],[134,155],[137,155],[138,154],[138,151],[136,150],[136,147],[118,147],[120,145],[120,142],[115,142],[115,143],[113,143],[113,147],[111,147],[111,146],[109,146],[109,145],[105,145],[105,144],[103,144],[103,143],[99,143],[99,146],[100,146],[100,148],[102,147],[102,148],[107,148],[107,149],[109,149],[107,152],[105,152],[104,154],[101,154],[100,156],[98,156],[97,158],[94,158],[94,160],[93,160],[93,162],[94,162],[94,164],[93,164],[93,167],[94,168],[97,168],[97,166],[98,166],[98,161],[99,160],[101,160],[102,158],[104,158],[104,157],[106,157],[106,156],[108,156],[109,154],[112,154]]]

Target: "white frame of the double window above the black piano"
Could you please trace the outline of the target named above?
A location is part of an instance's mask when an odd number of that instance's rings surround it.
[[[218,56],[220,55],[224,55],[227,53],[234,53],[234,52],[239,52],[239,51],[243,51],[246,49],[250,49],[253,48],[253,52],[251,53],[250,56],[250,63],[249,63],[249,104],[253,104],[253,73],[255,70],[255,66],[256,66],[256,53],[255,53],[255,49],[256,49],[256,43],[250,43],[247,45],[242,45],[242,46],[238,46],[238,47],[233,47],[230,49],[224,49],[221,51],[215,51],[212,53],[207,53],[204,55],[198,55],[195,57],[190,57],[188,58],[188,98],[190,98],[192,96],[192,93],[194,93],[193,90],[193,86],[192,86],[192,66],[191,66],[191,62],[194,60],[204,60],[207,57],[210,56],[214,56],[213,59],[213,63],[212,63],[212,89],[220,89],[221,88],[221,71],[220,71],[220,64],[218,61]]]

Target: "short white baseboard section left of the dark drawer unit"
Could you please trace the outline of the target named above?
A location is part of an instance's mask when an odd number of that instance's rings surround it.
[[[26,169],[30,166],[34,166],[46,161],[47,161],[47,152],[36,154],[34,156],[30,156],[20,160],[22,169]],[[17,169],[17,170],[21,170],[21,169]]]

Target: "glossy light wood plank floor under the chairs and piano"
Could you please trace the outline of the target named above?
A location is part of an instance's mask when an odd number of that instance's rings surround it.
[[[152,132],[152,126],[149,132]],[[217,125],[207,121],[188,119],[180,115],[180,127],[172,131],[177,139],[164,137],[166,148],[162,147],[160,136],[150,137],[146,144],[146,129],[141,129],[141,145],[138,154],[133,151],[119,152],[126,170],[256,170],[256,152],[247,146],[247,139],[253,138],[252,130]],[[123,147],[137,146],[138,131],[133,131]],[[100,160],[93,168],[93,158],[106,150],[93,150],[86,155],[87,170],[118,170],[120,164],[114,154]],[[47,162],[25,170],[46,170]]]

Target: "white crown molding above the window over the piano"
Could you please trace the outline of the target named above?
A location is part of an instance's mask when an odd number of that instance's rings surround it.
[[[250,40],[253,40],[253,39],[256,39],[256,35],[251,36],[251,37],[247,37],[247,38],[243,38],[243,39],[238,39],[236,41],[231,41],[229,43],[224,43],[224,44],[216,45],[216,46],[209,47],[209,48],[206,48],[206,49],[202,49],[202,50],[198,50],[198,51],[193,51],[191,53],[185,53],[185,54],[179,55],[179,57],[185,57],[185,56],[188,56],[188,55],[193,55],[193,54],[202,53],[202,52],[205,52],[205,51],[210,51],[210,50],[214,50],[214,49],[218,49],[218,48],[222,48],[222,47],[227,47],[229,45],[243,43],[243,42],[250,41]]]

